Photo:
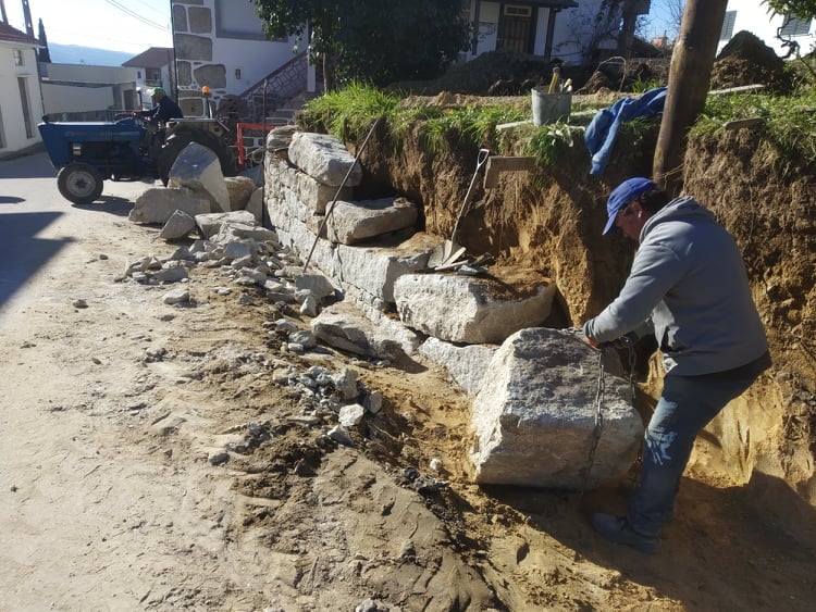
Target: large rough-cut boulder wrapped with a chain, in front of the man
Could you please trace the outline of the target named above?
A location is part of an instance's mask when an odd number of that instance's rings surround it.
[[[521,329],[496,351],[490,372],[473,400],[478,483],[579,489],[619,478],[634,462],[643,422],[627,382],[607,374],[603,428],[586,476],[598,367],[596,350],[577,335]]]

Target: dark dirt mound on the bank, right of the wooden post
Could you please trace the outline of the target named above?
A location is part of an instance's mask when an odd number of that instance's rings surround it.
[[[766,85],[770,91],[789,93],[791,76],[784,60],[750,32],[739,32],[722,48],[712,68],[712,89]]]

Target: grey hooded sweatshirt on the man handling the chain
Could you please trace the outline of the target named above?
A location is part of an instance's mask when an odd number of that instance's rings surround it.
[[[584,334],[607,342],[650,328],[669,375],[726,372],[768,350],[740,250],[693,198],[646,221],[623,289]]]

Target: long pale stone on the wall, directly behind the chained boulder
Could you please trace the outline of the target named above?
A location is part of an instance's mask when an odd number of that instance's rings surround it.
[[[531,296],[494,298],[485,278],[406,274],[394,284],[394,300],[401,321],[423,334],[449,342],[497,345],[514,332],[541,325],[555,291],[553,283],[545,283]]]

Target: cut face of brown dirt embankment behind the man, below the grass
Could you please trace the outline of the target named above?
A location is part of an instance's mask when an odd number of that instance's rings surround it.
[[[617,295],[628,273],[631,245],[601,238],[606,195],[625,177],[650,175],[658,127],[655,122],[653,135],[639,142],[620,142],[599,178],[589,176],[589,152],[576,146],[557,167],[534,177],[507,175],[487,190],[478,182],[459,241],[473,254],[490,252],[499,262],[554,278],[562,308],[548,324],[580,325]],[[477,151],[458,149],[437,157],[418,142],[418,137],[408,138],[395,153],[390,143],[372,140],[363,163],[373,178],[422,204],[429,232],[446,236]],[[717,438],[698,442],[693,465],[720,484],[743,485],[757,473],[770,475],[813,505],[816,189],[813,168],[779,162],[761,132],[727,133],[690,143],[685,192],[712,208],[735,236],[775,361],[772,371],[712,424]],[[641,347],[639,363],[648,362],[653,348]],[[658,374],[654,365],[640,372],[644,382],[658,379]],[[658,389],[644,384],[642,391],[648,405]]]

